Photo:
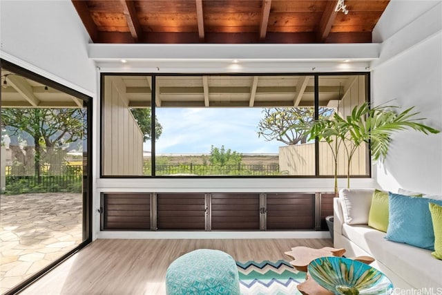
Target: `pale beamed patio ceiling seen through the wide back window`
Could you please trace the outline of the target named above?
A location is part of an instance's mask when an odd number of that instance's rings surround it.
[[[321,76],[319,105],[342,99],[361,79],[358,75]],[[130,108],[151,106],[151,77],[144,75],[108,75],[112,84]],[[162,76],[157,77],[157,107],[312,107],[314,77],[311,75],[260,76]],[[110,93],[104,95],[111,97]]]

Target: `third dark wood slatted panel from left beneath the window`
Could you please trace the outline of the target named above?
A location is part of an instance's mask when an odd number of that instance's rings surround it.
[[[259,230],[259,193],[212,193],[213,230]]]

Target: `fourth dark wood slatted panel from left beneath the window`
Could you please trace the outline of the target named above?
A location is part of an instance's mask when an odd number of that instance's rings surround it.
[[[267,193],[267,229],[314,229],[314,193]]]

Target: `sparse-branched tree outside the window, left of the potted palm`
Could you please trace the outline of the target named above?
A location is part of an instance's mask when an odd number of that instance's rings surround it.
[[[258,137],[278,140],[287,145],[305,143],[304,129],[297,128],[301,122],[314,121],[314,108],[265,108],[264,118],[258,124]],[[329,108],[319,108],[319,116],[330,115]]]

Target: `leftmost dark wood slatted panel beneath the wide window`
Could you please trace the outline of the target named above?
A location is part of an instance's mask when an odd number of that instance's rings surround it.
[[[151,229],[150,193],[104,193],[103,229]]]

